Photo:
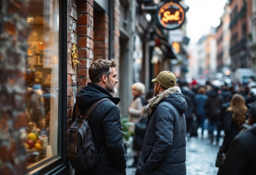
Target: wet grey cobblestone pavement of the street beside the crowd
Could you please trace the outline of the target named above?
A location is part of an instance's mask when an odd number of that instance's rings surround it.
[[[198,133],[200,129],[198,129]],[[222,139],[220,139],[221,145]],[[216,175],[218,168],[215,167],[216,156],[219,146],[215,142],[210,143],[210,140],[207,138],[207,131],[204,133],[203,139],[201,135],[198,137],[191,137],[187,139],[186,146],[186,167],[187,175]],[[127,149],[128,161],[127,165],[133,163],[132,160],[132,151],[130,148]],[[134,175],[136,168],[127,168],[127,175]]]

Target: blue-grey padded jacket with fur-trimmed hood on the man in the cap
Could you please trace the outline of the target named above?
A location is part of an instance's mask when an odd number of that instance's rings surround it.
[[[180,88],[169,88],[149,100],[150,115],[136,174],[186,174],[187,103]]]

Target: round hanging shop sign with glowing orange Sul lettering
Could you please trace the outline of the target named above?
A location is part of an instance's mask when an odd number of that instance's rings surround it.
[[[184,23],[185,11],[181,5],[169,2],[160,7],[157,17],[162,27],[174,30]]]

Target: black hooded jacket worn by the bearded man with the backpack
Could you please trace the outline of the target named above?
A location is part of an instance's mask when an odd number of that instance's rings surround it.
[[[95,146],[100,150],[105,143],[102,156],[98,164],[89,171],[79,174],[89,175],[121,175],[126,174],[126,156],[123,145],[120,112],[116,106],[120,99],[114,98],[106,89],[95,84],[88,83],[76,95],[76,103],[85,114],[88,108],[96,101],[108,98],[111,101],[103,101],[91,113],[89,125]],[[75,119],[76,104],[72,118]]]

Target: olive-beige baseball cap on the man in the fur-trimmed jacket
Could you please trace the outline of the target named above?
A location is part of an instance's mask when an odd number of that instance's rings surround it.
[[[176,77],[170,71],[162,71],[160,72],[152,82],[157,82],[164,88],[170,88],[176,85]]]

